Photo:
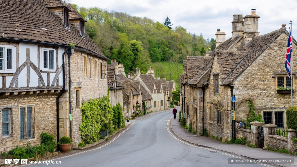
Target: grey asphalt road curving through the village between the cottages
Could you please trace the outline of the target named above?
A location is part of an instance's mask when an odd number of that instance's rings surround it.
[[[172,111],[167,111],[135,121],[118,136],[97,148],[87,151],[72,151],[63,157],[52,159],[52,161],[61,161],[61,164],[29,166],[273,166],[228,164],[229,158],[240,156],[181,141],[170,129],[172,116]]]

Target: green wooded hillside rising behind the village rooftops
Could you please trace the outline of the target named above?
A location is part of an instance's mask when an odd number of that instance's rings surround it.
[[[126,73],[135,73],[136,66],[141,73],[146,73],[150,65],[156,69],[155,66],[162,63],[164,71],[159,74],[160,77],[170,80],[171,76],[178,82],[177,75],[181,72],[175,74],[175,64],[179,64],[182,71],[181,63],[187,56],[204,56],[208,48],[215,47],[213,38],[206,40],[202,33],[196,35],[181,26],[171,27],[174,23],[168,17],[164,17],[164,23],[159,23],[147,17],[98,7],[72,6],[87,20],[85,31],[102,53],[124,64]],[[170,72],[171,67],[173,71]]]

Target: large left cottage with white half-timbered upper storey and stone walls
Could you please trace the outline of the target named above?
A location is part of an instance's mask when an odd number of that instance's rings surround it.
[[[107,95],[108,58],[86,21],[61,0],[4,0],[0,15],[0,152],[42,132],[78,144],[81,103]]]

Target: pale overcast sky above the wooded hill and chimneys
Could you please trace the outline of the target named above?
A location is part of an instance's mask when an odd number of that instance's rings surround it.
[[[196,35],[202,32],[205,39],[215,38],[217,29],[221,29],[221,32],[226,33],[226,40],[232,34],[233,15],[251,15],[251,9],[256,9],[256,14],[260,16],[260,35],[281,28],[283,23],[288,29],[290,20],[293,23],[292,35],[297,33],[295,0],[70,0],[70,3],[148,17],[160,23],[168,16],[173,24],[172,28],[182,26],[187,32]]]

